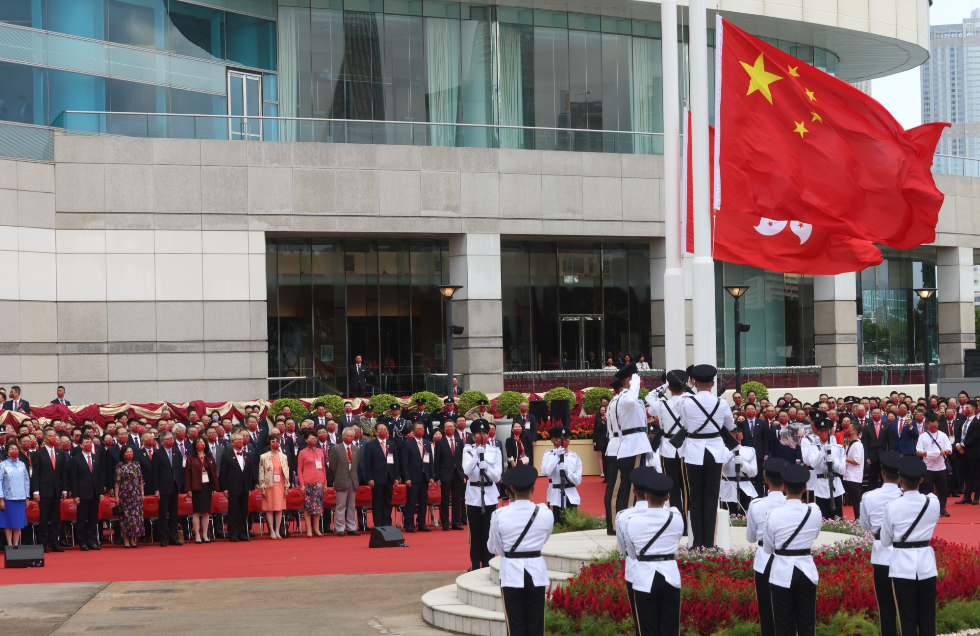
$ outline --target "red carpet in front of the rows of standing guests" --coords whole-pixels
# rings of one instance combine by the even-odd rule
[[[544,480],[535,489],[534,500],[544,501]],[[582,508],[604,514],[606,484],[600,477],[585,477],[579,487]],[[950,541],[980,542],[980,506],[955,506],[953,516],[940,520],[937,536]],[[851,507],[845,510],[852,516]],[[369,521],[368,521],[369,522]],[[311,574],[363,574],[374,572],[420,572],[465,570],[469,566],[467,532],[441,529],[406,535],[405,548],[368,549],[368,533],[360,537],[308,539],[293,535],[282,541],[267,538],[249,543],[215,541],[160,548],[141,545],[136,550],[105,546],[100,552],[48,554],[44,567],[7,569],[0,585],[87,581],[167,581],[187,578],[239,578],[304,576]]]

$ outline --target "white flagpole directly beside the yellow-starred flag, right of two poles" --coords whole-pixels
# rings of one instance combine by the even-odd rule
[[[691,141],[694,204],[694,364],[717,361],[714,330],[714,260],[708,158],[708,12],[705,0],[691,0]],[[666,68],[666,67],[664,67]],[[666,73],[664,73],[664,79]],[[713,96],[711,96],[713,97]]]

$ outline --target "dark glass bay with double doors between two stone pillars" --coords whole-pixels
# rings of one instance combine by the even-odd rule
[[[501,241],[505,370],[650,356],[650,249]]]

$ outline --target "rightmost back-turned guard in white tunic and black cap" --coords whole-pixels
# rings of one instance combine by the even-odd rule
[[[898,464],[903,493],[885,506],[881,545],[894,548],[888,575],[899,610],[899,633],[935,636],[936,554],[929,541],[939,522],[939,498],[918,491],[926,471],[922,458],[905,456]]]

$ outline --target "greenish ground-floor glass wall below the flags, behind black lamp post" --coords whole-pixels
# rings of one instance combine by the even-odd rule
[[[744,367],[799,367],[815,364],[813,276],[714,262],[718,367],[735,367],[735,305],[724,285],[749,285],[739,300]]]

